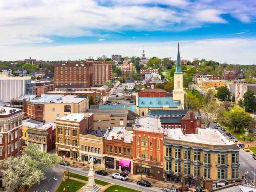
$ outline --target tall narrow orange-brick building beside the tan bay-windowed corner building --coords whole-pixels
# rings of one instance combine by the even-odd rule
[[[137,117],[133,128],[133,174],[162,180],[163,139],[160,117]]]

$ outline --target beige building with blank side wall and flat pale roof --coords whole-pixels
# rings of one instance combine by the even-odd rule
[[[81,113],[89,108],[89,99],[85,95],[66,95],[44,103],[44,119],[46,122],[55,121],[58,117],[70,113]]]

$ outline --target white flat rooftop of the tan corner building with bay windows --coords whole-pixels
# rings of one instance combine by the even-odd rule
[[[198,129],[198,134],[183,135],[181,128],[165,129],[164,136],[167,139],[174,139],[186,142],[208,145],[233,145],[232,140],[227,139],[222,133],[216,129]]]

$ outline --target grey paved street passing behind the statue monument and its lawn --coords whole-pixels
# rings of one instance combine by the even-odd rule
[[[63,165],[58,165],[57,168],[65,170],[65,166]],[[72,165],[69,165],[69,171],[70,172],[74,172],[76,174],[80,174],[80,175],[84,175],[87,176],[89,171],[82,169],[80,167],[75,167]],[[126,181],[121,181],[121,180],[117,180],[117,179],[112,179],[110,175],[106,175],[106,176],[102,176],[102,175],[95,175],[96,179],[102,180],[102,181],[107,181],[110,183],[114,183],[117,185],[121,185],[124,187],[129,187],[129,188],[133,188],[135,190],[139,190],[139,191],[143,191],[143,192],[160,192],[160,188],[158,187],[143,187],[140,185],[137,185],[136,182],[131,181],[131,180],[126,180]],[[43,191],[42,191],[43,192]]]

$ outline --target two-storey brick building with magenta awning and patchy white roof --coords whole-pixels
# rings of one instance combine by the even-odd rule
[[[107,129],[102,142],[106,168],[133,174],[133,132],[113,127]]]

